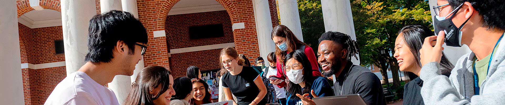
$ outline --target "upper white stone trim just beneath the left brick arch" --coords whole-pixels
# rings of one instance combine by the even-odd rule
[[[31,28],[31,29],[42,28],[42,27],[62,26],[62,19],[33,21],[24,15],[20,16],[18,18],[18,22]]]

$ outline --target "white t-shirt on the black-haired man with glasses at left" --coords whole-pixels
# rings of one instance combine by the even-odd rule
[[[56,85],[44,105],[97,104],[119,105],[114,92],[95,82],[84,72],[74,72]]]

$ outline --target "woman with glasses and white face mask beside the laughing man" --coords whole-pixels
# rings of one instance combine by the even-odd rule
[[[312,76],[312,68],[303,50],[295,50],[286,55],[286,76],[289,79],[287,85],[287,103],[303,104],[297,95],[303,94],[307,98],[314,95],[318,97],[333,96],[333,89],[325,78]]]

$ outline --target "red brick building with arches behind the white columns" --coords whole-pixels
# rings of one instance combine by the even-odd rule
[[[24,104],[43,104],[54,87],[66,77],[66,54],[57,54],[64,39],[60,0],[18,0],[19,42]],[[148,32],[144,67],[170,68],[175,77],[186,68],[219,69],[221,48],[235,47],[251,63],[260,56],[252,0],[138,0],[138,18]],[[275,0],[269,0],[271,26],[279,24]],[[96,14],[101,13],[95,1]],[[53,16],[47,16],[53,15]],[[192,39],[188,27],[221,24],[223,36]],[[161,33],[161,34],[160,34]],[[270,37],[270,36],[269,36]],[[85,43],[81,43],[85,44]]]

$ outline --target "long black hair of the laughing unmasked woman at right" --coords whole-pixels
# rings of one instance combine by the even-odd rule
[[[435,33],[431,31],[428,27],[421,25],[421,24],[411,24],[404,26],[401,28],[400,31],[398,31],[398,35],[403,34],[403,40],[409,46],[410,51],[412,54],[414,54],[414,59],[416,59],[416,64],[420,68],[421,66],[421,58],[420,58],[420,53],[419,50],[423,46],[424,38],[429,37],[429,36],[434,36]],[[449,76],[450,71],[454,68],[454,65],[452,65],[449,62],[449,59],[445,56],[444,53],[442,53],[442,58],[440,60],[440,70],[442,75]],[[419,77],[418,75],[412,73],[412,72],[403,72],[407,77],[409,77],[411,80],[414,78]]]

